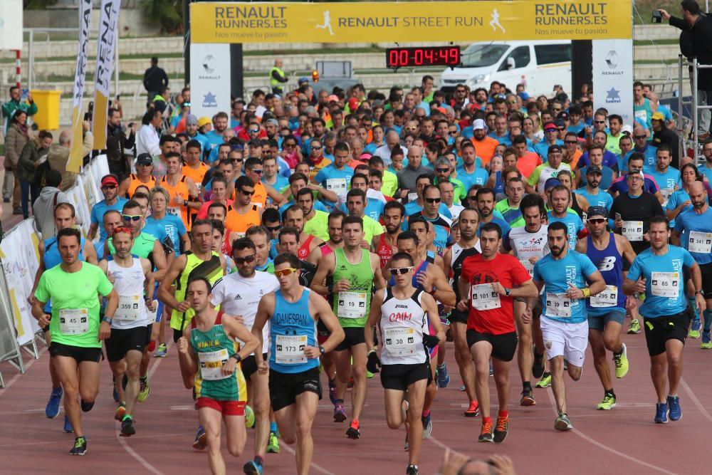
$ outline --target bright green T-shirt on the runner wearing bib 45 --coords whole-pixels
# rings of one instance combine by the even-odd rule
[[[108,296],[114,286],[98,266],[82,263],[77,272],[54,266],[42,273],[35,291],[38,301],[52,299],[49,331],[52,341],[81,348],[101,348],[99,337],[99,297]]]

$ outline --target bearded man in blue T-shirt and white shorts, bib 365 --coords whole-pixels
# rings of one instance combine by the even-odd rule
[[[534,264],[534,284],[542,295],[541,333],[551,366],[551,388],[556,400],[557,430],[573,429],[566,413],[564,359],[572,380],[581,377],[588,340],[586,306],[583,301],[606,288],[591,259],[569,249],[565,223],[549,225],[547,239],[551,254]],[[589,286],[586,286],[586,282]]]

